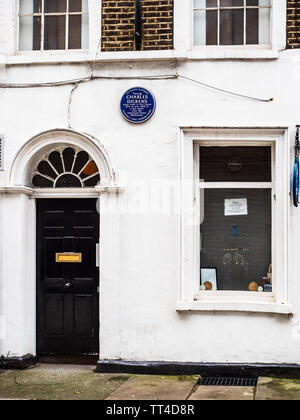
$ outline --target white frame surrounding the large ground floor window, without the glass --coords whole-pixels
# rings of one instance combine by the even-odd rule
[[[288,129],[184,129],[181,138],[181,276],[178,311],[246,311],[290,314],[288,283],[289,147]],[[200,291],[200,199],[195,150],[205,146],[272,147],[272,293]],[[222,183],[221,188],[238,187]],[[241,184],[254,188],[257,183]],[[268,183],[268,185],[270,185]],[[212,187],[213,185],[210,185]],[[216,185],[215,185],[216,186]],[[260,188],[266,184],[261,183]]]

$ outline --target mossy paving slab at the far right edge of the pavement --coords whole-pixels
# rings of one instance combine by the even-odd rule
[[[300,380],[259,378],[255,400],[300,400]]]

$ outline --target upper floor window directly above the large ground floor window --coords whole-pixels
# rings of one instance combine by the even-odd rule
[[[194,45],[270,45],[271,0],[193,0]]]

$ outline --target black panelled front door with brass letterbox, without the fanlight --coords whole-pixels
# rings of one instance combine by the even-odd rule
[[[37,200],[38,354],[99,351],[96,199]]]

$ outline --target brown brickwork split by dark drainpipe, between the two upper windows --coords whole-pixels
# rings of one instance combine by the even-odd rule
[[[173,49],[173,0],[142,0],[143,50]],[[135,0],[102,0],[102,51],[135,50]]]

